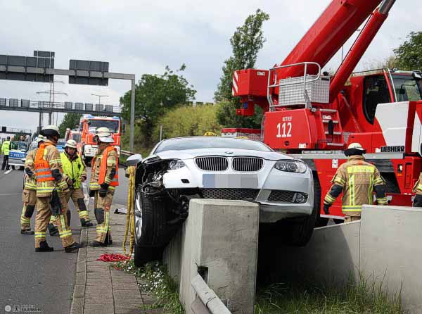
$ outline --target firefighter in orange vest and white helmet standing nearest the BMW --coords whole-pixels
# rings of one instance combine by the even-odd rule
[[[89,191],[94,194],[94,211],[98,222],[96,238],[91,246],[112,244],[110,234],[110,206],[115,188],[119,185],[117,150],[111,145],[114,140],[107,127],[98,127],[96,132],[98,152],[92,160]]]

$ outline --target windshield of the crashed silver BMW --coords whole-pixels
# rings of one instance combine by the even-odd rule
[[[229,137],[181,137],[162,141],[153,153],[160,151],[183,151],[185,149],[248,149],[252,151],[271,151],[261,142]]]

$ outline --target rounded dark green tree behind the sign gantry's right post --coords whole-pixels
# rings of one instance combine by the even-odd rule
[[[196,90],[186,78],[178,75],[186,65],[174,72],[168,66],[163,75],[144,74],[135,87],[135,118],[139,119],[141,132],[145,137],[145,146],[151,144],[151,136],[158,119],[175,106],[195,99]],[[131,92],[120,98],[122,115],[130,118]]]

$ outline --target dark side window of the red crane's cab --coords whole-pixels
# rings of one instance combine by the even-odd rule
[[[366,120],[373,124],[378,103],[389,103],[390,92],[384,75],[365,77],[364,80],[364,114]]]

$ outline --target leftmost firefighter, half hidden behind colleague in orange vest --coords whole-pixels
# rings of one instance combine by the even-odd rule
[[[44,143],[45,137],[39,135],[37,137],[38,147]],[[37,204],[37,181],[35,180],[34,160],[37,149],[27,153],[25,158],[25,184],[22,192],[23,208],[20,215],[20,233],[34,234],[31,231],[31,217]]]

